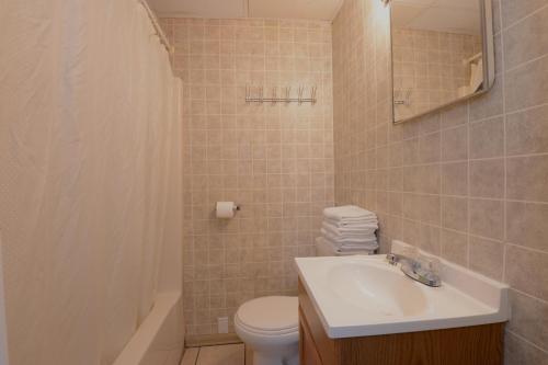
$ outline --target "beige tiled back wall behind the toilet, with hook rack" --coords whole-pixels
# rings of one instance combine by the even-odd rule
[[[331,24],[163,19],[184,82],[184,310],[190,334],[217,332],[250,298],[296,293],[333,204]],[[246,84],[318,85],[318,103],[247,105]],[[281,89],[277,91],[278,95]],[[214,216],[217,201],[242,207]]]

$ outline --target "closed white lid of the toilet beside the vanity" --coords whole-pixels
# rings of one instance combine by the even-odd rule
[[[262,297],[240,306],[238,319],[260,331],[282,331],[298,328],[299,301],[297,297]]]

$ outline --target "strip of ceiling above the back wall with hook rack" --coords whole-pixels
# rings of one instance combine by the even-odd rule
[[[332,20],[343,0],[148,0],[159,16]]]

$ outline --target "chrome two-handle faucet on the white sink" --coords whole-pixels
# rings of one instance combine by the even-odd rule
[[[415,258],[413,258],[415,256]],[[438,274],[439,261],[421,254],[398,254],[388,253],[386,255],[390,265],[400,264],[401,271],[412,280],[432,287],[442,286],[442,278]]]

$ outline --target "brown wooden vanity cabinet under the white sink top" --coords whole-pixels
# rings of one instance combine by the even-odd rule
[[[502,365],[504,323],[330,339],[299,281],[300,365]]]

